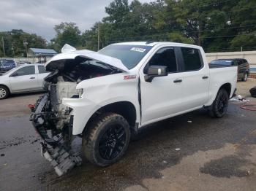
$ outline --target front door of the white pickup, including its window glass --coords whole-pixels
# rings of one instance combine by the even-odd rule
[[[168,75],[155,77],[152,82],[146,82],[144,77],[148,66],[167,66]],[[140,71],[142,125],[183,111],[180,75],[174,47],[162,47],[157,50],[143,71]]]

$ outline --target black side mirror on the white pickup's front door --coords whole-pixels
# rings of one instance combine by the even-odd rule
[[[167,66],[149,66],[145,75],[145,81],[152,82],[154,77],[165,77],[167,75]]]

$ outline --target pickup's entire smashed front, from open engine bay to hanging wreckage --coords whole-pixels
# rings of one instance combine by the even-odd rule
[[[44,140],[41,143],[42,155],[61,176],[82,162],[80,153],[72,151],[72,109],[62,104],[62,98],[81,98],[83,90],[76,89],[79,82],[117,74],[121,70],[80,56],[53,60],[46,69],[51,72],[45,77],[47,93],[31,106],[30,120]]]

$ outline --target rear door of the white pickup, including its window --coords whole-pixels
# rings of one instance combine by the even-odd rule
[[[197,48],[180,47],[181,52],[181,97],[184,109],[195,109],[208,101],[208,86],[210,82],[209,69],[203,63],[201,52]]]

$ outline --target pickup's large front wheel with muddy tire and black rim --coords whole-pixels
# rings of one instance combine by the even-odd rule
[[[124,117],[115,113],[102,114],[83,136],[83,153],[96,165],[116,163],[127,150],[130,136],[129,124]]]

